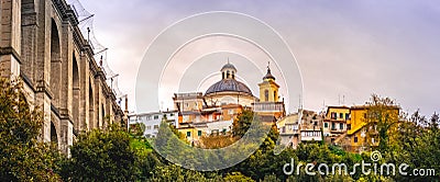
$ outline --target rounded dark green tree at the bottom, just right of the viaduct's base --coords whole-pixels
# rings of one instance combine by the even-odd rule
[[[66,181],[134,181],[140,173],[129,133],[118,126],[80,134],[65,166]],[[139,151],[138,151],[139,152]]]

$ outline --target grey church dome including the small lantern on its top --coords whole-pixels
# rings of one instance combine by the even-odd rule
[[[252,95],[252,91],[246,84],[235,80],[237,69],[232,64],[228,61],[220,71],[222,72],[222,79],[209,87],[205,94],[218,92],[241,92]]]

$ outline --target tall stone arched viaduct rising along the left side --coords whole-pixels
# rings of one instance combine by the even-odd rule
[[[65,0],[0,2],[0,76],[23,81],[28,102],[44,115],[42,140],[68,153],[79,132],[125,124]]]

